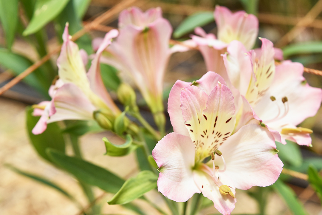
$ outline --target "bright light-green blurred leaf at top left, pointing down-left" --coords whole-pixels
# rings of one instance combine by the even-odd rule
[[[62,12],[70,0],[38,0],[30,20],[23,35],[29,35],[39,31],[43,26],[52,21]]]

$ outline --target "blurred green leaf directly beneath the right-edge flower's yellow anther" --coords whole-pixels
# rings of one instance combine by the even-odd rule
[[[279,150],[279,158],[284,162],[287,162],[293,166],[300,166],[303,163],[302,154],[298,144],[286,140],[286,145],[279,142],[275,142],[276,147]]]

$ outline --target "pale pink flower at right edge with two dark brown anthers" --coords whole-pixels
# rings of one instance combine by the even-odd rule
[[[273,43],[262,41],[261,50],[250,51],[233,41],[223,55],[228,82],[251,104],[256,115],[272,131],[276,141],[285,139],[299,145],[311,145],[311,130],[297,128],[304,119],[317,113],[321,105],[321,89],[310,87],[303,77],[303,65],[282,61],[275,65]],[[276,135],[280,133],[281,139]]]

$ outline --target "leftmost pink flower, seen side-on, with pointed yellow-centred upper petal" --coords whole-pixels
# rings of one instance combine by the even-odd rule
[[[41,134],[47,128],[47,123],[78,119],[92,120],[93,112],[101,108],[117,115],[120,110],[110,98],[99,70],[99,57],[102,51],[118,35],[117,30],[106,34],[100,45],[89,71],[86,73],[84,53],[77,44],[72,42],[68,34],[68,24],[63,33],[63,45],[57,59],[59,79],[50,87],[51,101],[41,102],[35,106],[34,116],[41,116],[33,134]]]

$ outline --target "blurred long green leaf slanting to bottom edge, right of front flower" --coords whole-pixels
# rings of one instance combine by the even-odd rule
[[[274,190],[278,192],[279,195],[284,199],[285,203],[294,215],[307,215],[302,203],[298,201],[294,191],[289,186],[284,184],[284,182],[281,180],[277,180],[272,186]]]

